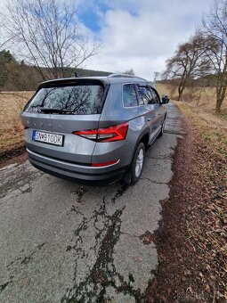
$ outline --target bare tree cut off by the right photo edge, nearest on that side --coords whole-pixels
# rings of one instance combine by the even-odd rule
[[[227,94],[227,1],[215,1],[203,17],[199,30],[207,41],[205,51],[213,68],[216,88],[216,112],[221,111]]]

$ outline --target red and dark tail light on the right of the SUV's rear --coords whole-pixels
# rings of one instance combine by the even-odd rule
[[[113,127],[105,127],[91,130],[80,130],[73,132],[74,135],[81,135],[96,142],[112,142],[125,140],[127,135],[128,123],[118,124]]]

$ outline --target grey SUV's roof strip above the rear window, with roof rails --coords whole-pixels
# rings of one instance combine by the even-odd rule
[[[48,80],[41,83],[41,86],[45,86],[48,84],[57,84],[57,83],[70,83],[70,82],[77,82],[82,80],[100,80],[103,83],[109,84],[117,84],[117,83],[149,83],[146,79],[134,77],[131,75],[125,74],[111,74],[105,77],[72,77],[72,78],[59,78]]]

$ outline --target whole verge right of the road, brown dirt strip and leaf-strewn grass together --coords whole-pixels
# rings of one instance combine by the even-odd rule
[[[176,102],[186,135],[174,153],[169,199],[155,234],[158,271],[148,302],[227,301],[227,159],[224,121]],[[165,135],[165,134],[164,134]]]

